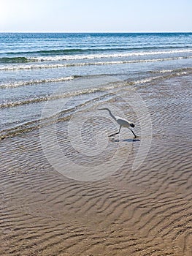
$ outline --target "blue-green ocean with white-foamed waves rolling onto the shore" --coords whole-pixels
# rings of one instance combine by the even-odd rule
[[[191,72],[192,33],[1,33],[0,137],[38,129],[47,101],[68,100],[65,118],[117,89]]]

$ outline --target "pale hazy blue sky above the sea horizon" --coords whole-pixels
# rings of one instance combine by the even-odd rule
[[[192,0],[0,0],[0,31],[192,31]]]

